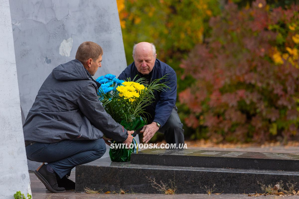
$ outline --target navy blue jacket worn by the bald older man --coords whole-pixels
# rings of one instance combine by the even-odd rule
[[[149,113],[150,118],[148,119],[148,124],[154,122],[158,122],[161,124],[161,127],[164,126],[166,121],[168,120],[173,107],[176,104],[176,72],[164,62],[156,59],[155,66],[152,69],[152,76],[150,78],[150,82],[152,80],[163,77],[164,75],[169,74],[167,79],[163,79],[160,82],[164,83],[169,81],[169,86],[171,90],[167,89],[166,92],[155,92],[155,100],[152,104],[146,107],[145,111]],[[126,78],[134,79],[137,76],[137,79],[141,78],[140,73],[137,71],[135,62],[130,64],[119,76],[119,79],[126,80]]]

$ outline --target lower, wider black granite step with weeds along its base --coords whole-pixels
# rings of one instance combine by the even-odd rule
[[[172,180],[177,193],[206,193],[205,186],[209,188],[214,183],[215,193],[260,193],[257,182],[265,185],[274,185],[281,180],[285,185],[295,183],[299,181],[299,172],[142,165],[103,158],[76,166],[76,191],[84,192],[84,188],[90,188],[103,192],[123,189],[135,193],[160,193],[148,178],[155,179],[158,184]]]

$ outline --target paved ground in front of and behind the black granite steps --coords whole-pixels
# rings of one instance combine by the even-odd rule
[[[225,150],[225,151],[252,151],[252,152],[274,152],[274,153],[298,153],[299,147],[297,146],[269,146],[269,147],[246,147],[246,148],[220,148],[220,147],[188,147],[188,149],[202,149],[202,150]],[[51,193],[41,181],[29,172],[31,191],[33,199],[91,199],[91,198],[122,198],[122,199],[137,199],[137,198],[163,198],[163,199],[185,199],[185,198],[199,198],[199,199],[236,199],[236,198],[251,198],[244,194],[220,194],[220,195],[207,195],[207,194],[86,194],[77,193],[75,191],[66,191],[65,193]],[[75,181],[75,172],[72,172],[70,179]],[[298,198],[299,196],[287,196],[288,198]],[[278,198],[278,196],[260,196],[259,198]]]

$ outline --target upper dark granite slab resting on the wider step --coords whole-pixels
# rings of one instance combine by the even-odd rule
[[[299,153],[146,149],[131,156],[132,164],[231,169],[299,171]]]

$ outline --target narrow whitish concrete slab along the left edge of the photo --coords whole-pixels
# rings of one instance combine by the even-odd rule
[[[0,0],[0,198],[31,194],[8,0]]]

